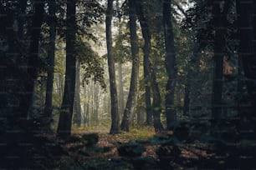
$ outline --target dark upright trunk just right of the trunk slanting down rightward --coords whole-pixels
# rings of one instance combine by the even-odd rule
[[[172,122],[177,120],[177,109],[174,107],[174,93],[177,82],[177,64],[176,54],[174,49],[174,36],[171,21],[171,2],[172,0],[165,0],[163,3],[163,17],[164,17],[164,33],[166,44],[166,124],[167,129],[170,129]]]

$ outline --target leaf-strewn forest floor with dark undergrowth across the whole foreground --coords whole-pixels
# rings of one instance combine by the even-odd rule
[[[20,157],[0,159],[0,169],[256,169],[255,147],[238,150],[220,144],[217,153],[211,143],[177,143],[175,138],[172,132],[156,134],[151,127],[115,135],[100,128],[74,128],[66,139],[55,133],[28,135],[27,144],[8,148],[8,154]]]

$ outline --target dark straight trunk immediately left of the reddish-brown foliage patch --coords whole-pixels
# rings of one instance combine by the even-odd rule
[[[223,11],[221,2],[212,2],[212,25],[215,30],[214,39],[214,66],[212,87],[212,126],[215,126],[223,117],[223,56],[225,55],[225,33],[227,32],[229,2],[224,3]]]

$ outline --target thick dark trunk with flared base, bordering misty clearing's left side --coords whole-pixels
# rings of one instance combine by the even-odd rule
[[[67,138],[71,134],[71,123],[74,104],[74,88],[75,88],[75,1],[67,1],[67,31],[66,31],[66,72],[64,96],[61,104],[59,115],[59,125],[57,133],[61,138]]]

